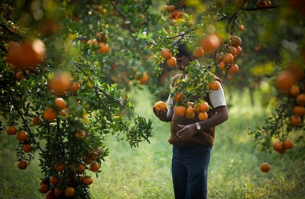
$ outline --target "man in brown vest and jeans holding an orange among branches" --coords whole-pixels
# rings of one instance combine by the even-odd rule
[[[178,86],[176,81],[187,78],[185,67],[191,61],[199,66],[199,61],[188,51],[183,43],[178,44],[176,67],[182,71],[172,79],[172,87]],[[215,77],[215,80],[220,81]],[[221,82],[221,81],[220,81]],[[175,198],[199,199],[207,198],[207,169],[214,144],[215,127],[228,120],[228,109],[224,91],[212,91],[208,96],[197,96],[209,102],[213,107],[209,118],[200,121],[196,116],[188,119],[178,117],[174,113],[175,103],[172,96],[168,97],[168,110],[155,110],[155,115],[165,122],[171,122],[171,136],[168,142],[173,145],[172,179]]]

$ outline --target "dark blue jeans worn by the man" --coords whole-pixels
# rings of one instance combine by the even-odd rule
[[[173,145],[172,178],[175,199],[206,199],[207,170],[212,146]]]

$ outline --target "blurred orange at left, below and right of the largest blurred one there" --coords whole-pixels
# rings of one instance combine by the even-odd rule
[[[70,73],[58,72],[48,81],[48,89],[55,94],[60,94],[68,91],[70,84]]]

